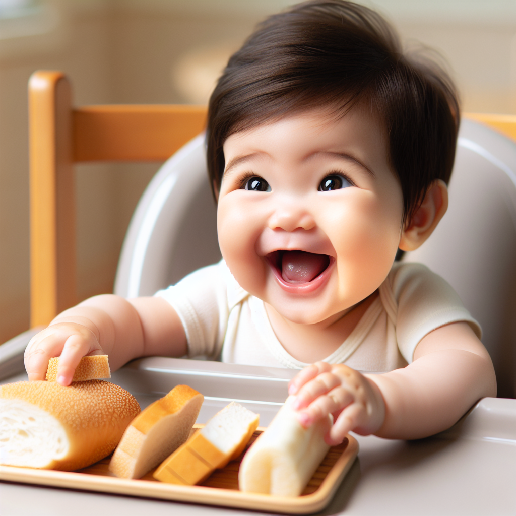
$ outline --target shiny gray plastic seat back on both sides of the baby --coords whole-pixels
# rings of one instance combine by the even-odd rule
[[[404,261],[428,265],[459,293],[483,328],[498,395],[516,395],[516,144],[463,120],[449,209]],[[204,138],[172,156],[144,192],[127,230],[115,293],[152,295],[220,259]]]

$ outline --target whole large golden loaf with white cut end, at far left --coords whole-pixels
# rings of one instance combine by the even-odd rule
[[[73,471],[109,455],[140,412],[136,399],[103,380],[0,386],[0,463]]]

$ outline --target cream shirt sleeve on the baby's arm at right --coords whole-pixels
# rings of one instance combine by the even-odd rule
[[[397,301],[396,340],[409,364],[422,338],[451,322],[467,322],[477,337],[482,337],[480,325],[465,309],[459,295],[425,265],[396,264],[389,276]]]

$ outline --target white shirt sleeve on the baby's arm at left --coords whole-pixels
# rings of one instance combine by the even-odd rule
[[[188,357],[215,359],[222,347],[228,321],[225,264],[198,269],[175,285],[154,294],[168,301],[186,333]]]

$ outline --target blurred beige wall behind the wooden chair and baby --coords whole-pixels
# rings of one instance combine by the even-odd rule
[[[0,0],[0,342],[29,324],[26,85],[66,72],[77,105],[205,103],[228,56],[285,0]],[[447,59],[465,111],[516,114],[514,0],[376,0]],[[111,292],[156,164],[77,167],[77,299]]]

